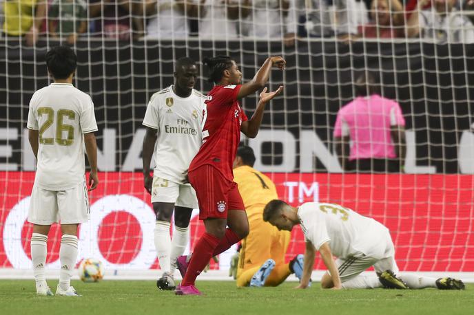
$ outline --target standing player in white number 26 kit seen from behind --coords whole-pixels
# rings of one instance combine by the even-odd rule
[[[89,191],[99,184],[94,104],[72,85],[76,61],[69,47],[54,47],[46,54],[54,83],[34,92],[28,111],[28,140],[37,158],[28,222],[33,224],[31,258],[39,295],[52,295],[45,279],[46,243],[51,224],[61,222],[56,295],[79,296],[70,279],[77,260],[77,228],[89,219],[84,146],[91,168]]]

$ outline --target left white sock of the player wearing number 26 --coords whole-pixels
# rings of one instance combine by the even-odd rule
[[[31,237],[31,260],[33,263],[34,281],[37,283],[37,289],[47,287],[46,283],[46,255],[48,254],[48,235],[33,233]]]

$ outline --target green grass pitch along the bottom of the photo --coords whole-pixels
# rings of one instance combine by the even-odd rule
[[[57,280],[49,281],[53,292]],[[32,280],[0,281],[0,313],[41,314],[474,314],[474,285],[464,291],[295,290],[280,287],[237,288],[232,281],[198,281],[205,296],[175,296],[158,291],[155,281],[102,281],[72,285],[83,296],[37,296]]]

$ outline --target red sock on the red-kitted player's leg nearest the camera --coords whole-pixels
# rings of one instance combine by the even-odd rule
[[[218,246],[220,239],[212,234],[205,232],[194,246],[194,252],[189,261],[189,266],[181,286],[194,285],[196,277],[204,270],[209,260],[212,258],[216,246]]]

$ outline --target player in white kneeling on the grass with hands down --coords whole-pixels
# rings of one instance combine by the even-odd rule
[[[308,287],[318,250],[328,269],[321,279],[321,286],[325,289],[464,289],[461,280],[448,277],[397,276],[399,270],[389,229],[374,219],[338,204],[307,202],[295,208],[274,199],[265,206],[263,220],[280,230],[289,231],[300,224],[305,234],[306,251],[298,288]],[[337,257],[336,261],[333,256]],[[376,275],[360,275],[371,266]]]

